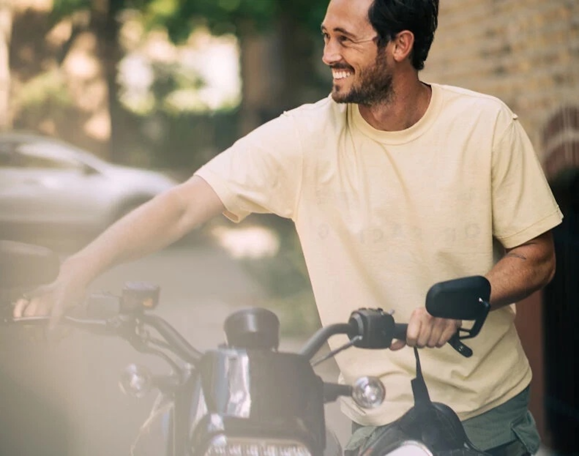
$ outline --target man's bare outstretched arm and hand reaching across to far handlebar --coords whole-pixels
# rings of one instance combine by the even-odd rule
[[[211,186],[193,176],[130,212],[67,258],[57,280],[38,297],[20,300],[14,315],[52,312],[58,318],[64,307],[81,299],[90,282],[104,271],[167,247],[224,210]]]

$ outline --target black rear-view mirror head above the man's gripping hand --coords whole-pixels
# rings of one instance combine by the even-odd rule
[[[439,282],[426,295],[426,310],[433,317],[478,320],[486,317],[490,282],[482,275],[472,275]]]

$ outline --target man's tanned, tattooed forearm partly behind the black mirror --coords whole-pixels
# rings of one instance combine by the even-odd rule
[[[551,231],[506,249],[486,278],[491,285],[491,310],[515,303],[547,285],[555,275]]]

